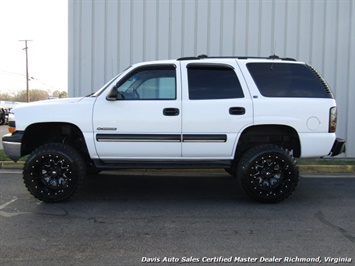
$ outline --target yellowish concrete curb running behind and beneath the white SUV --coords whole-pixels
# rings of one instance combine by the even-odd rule
[[[10,161],[3,161],[0,162],[0,169],[22,169],[24,162],[10,162]],[[306,173],[355,173],[355,165],[299,165],[300,172]],[[125,169],[126,170],[126,169]],[[153,172],[156,171],[155,169],[139,169],[145,172]],[[127,171],[129,171],[127,169]],[[137,171],[137,169],[135,169]],[[163,169],[159,171],[171,171],[171,169]],[[174,169],[174,171],[181,171],[181,172],[224,172],[223,169]]]

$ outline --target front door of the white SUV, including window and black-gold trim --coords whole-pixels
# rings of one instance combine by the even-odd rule
[[[181,157],[178,68],[138,66],[97,99],[94,141],[101,159]]]

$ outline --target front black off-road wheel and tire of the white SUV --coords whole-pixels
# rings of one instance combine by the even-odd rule
[[[83,184],[85,162],[71,146],[49,143],[38,147],[27,158],[23,179],[28,191],[45,202],[70,198]]]

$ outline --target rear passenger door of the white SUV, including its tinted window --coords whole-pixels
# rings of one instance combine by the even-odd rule
[[[181,61],[182,156],[230,159],[252,123],[252,101],[235,61]],[[244,88],[244,89],[243,89]]]

